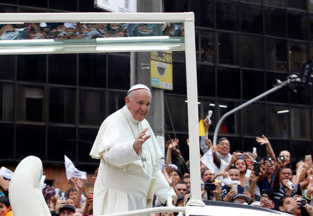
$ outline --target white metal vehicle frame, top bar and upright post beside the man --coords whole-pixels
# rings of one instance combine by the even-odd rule
[[[204,206],[200,185],[198,88],[195,58],[194,14],[190,13],[1,13],[0,23],[99,22],[99,23],[184,23],[188,135],[191,167],[191,200],[188,205]],[[129,52],[136,49],[129,49]]]

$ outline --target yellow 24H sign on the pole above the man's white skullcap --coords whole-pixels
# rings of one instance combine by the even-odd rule
[[[150,53],[151,86],[172,90],[172,51]]]

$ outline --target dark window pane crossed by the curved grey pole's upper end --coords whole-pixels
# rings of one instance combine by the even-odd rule
[[[266,91],[274,88],[274,86],[277,84],[277,79],[280,81],[285,81],[286,78],[287,74],[266,72]],[[281,88],[271,94],[268,94],[266,98],[268,101],[287,103],[288,92],[286,89]]]

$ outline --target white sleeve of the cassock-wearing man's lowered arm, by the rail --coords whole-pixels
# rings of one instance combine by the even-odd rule
[[[156,178],[154,194],[157,195],[162,203],[165,203],[168,198],[172,197],[172,195],[176,195],[174,189],[170,187],[161,170],[154,172],[153,176]]]

